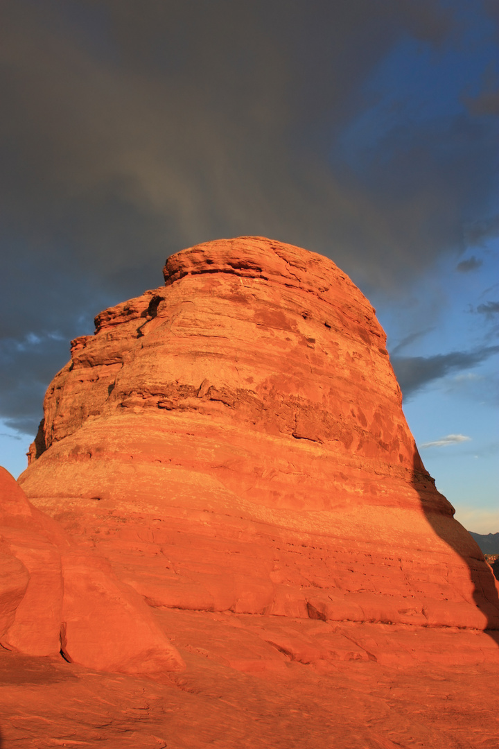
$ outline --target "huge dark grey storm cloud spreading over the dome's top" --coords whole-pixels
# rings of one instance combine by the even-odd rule
[[[402,116],[358,146],[361,169],[342,145],[397,43],[459,35],[434,0],[7,0],[2,14],[9,419],[31,418],[91,315],[160,285],[185,246],[264,234],[390,291],[462,249],[463,220],[488,226],[480,97]]]

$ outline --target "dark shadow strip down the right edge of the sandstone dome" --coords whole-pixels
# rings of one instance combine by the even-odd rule
[[[480,628],[499,647],[499,595],[495,576],[472,536],[461,524],[453,521],[453,506],[435,488],[435,479],[429,476],[417,450],[414,452],[412,484],[419,494],[421,507],[432,529],[465,562],[473,586],[474,603],[486,617],[485,626]]]

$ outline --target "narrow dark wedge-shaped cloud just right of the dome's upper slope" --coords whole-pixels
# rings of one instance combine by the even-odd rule
[[[452,351],[434,357],[392,357],[391,363],[402,393],[408,398],[433,380],[477,366],[498,352],[499,346],[486,346],[476,351]]]

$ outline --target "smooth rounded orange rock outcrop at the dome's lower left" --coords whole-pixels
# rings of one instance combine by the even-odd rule
[[[0,645],[98,670],[183,667],[150,608],[108,562],[70,542],[0,467]]]

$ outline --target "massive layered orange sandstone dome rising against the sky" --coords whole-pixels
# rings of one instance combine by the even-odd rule
[[[19,479],[32,503],[155,607],[498,628],[352,281],[263,237],[164,272],[72,342]]]

